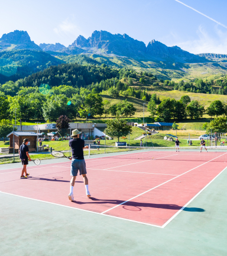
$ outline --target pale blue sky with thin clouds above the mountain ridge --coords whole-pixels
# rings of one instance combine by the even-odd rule
[[[226,0],[181,0],[227,27]],[[155,39],[191,53],[227,54],[227,28],[176,0],[8,0],[1,2],[0,37],[26,30],[35,43],[69,46],[95,30]]]

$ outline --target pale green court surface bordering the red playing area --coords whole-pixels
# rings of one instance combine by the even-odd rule
[[[67,161],[51,159],[42,164]],[[0,170],[18,167],[1,165]],[[226,183],[227,168],[164,228],[18,197],[12,195],[14,191],[0,193],[0,255],[225,256]],[[198,208],[203,211],[193,212]]]

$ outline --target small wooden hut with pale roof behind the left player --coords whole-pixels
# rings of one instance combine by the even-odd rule
[[[18,151],[24,139],[29,139],[29,151],[37,151],[37,133],[35,132],[11,132],[7,135],[9,137],[9,149]]]

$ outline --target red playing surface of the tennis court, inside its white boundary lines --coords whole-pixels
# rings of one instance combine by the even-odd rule
[[[226,158],[227,152],[139,152],[87,159],[92,197],[78,176],[73,202],[70,161],[28,165],[26,180],[21,168],[1,170],[0,191],[164,228],[226,168]]]

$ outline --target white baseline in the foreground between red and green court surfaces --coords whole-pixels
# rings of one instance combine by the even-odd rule
[[[51,203],[51,202],[48,202],[48,201],[43,201],[43,200],[38,200],[38,199],[31,199],[30,197],[18,196],[18,195],[15,195],[15,194],[10,194],[10,193],[6,193],[6,192],[2,192],[2,191],[0,191],[0,193],[2,193],[2,194],[9,194],[9,195],[11,195],[11,196],[22,197],[22,198],[30,199],[30,200],[34,200],[34,201],[41,201],[41,202],[43,202],[43,203],[54,204],[54,205],[56,205],[56,206],[66,207],[66,208],[70,208],[70,209],[74,209],[74,210],[81,210],[81,211],[83,211],[83,212],[89,212],[89,213],[95,213],[95,214],[97,214],[97,215],[102,215],[101,213],[92,212],[92,211],[84,210],[84,209],[79,209],[79,208],[72,207],[72,206],[64,206],[63,204]],[[145,222],[138,222],[137,220],[124,219],[124,218],[122,218],[122,217],[116,217],[116,216],[111,216],[111,215],[102,215],[102,216],[113,217],[113,218],[115,218],[115,219],[128,220],[129,222],[135,222],[135,223],[140,223],[140,224],[144,224],[144,225],[148,225],[148,226],[154,226],[154,227],[156,227],[156,228],[162,228],[161,226],[158,226],[158,225],[153,225],[153,224],[149,224],[149,223],[145,223]]]

